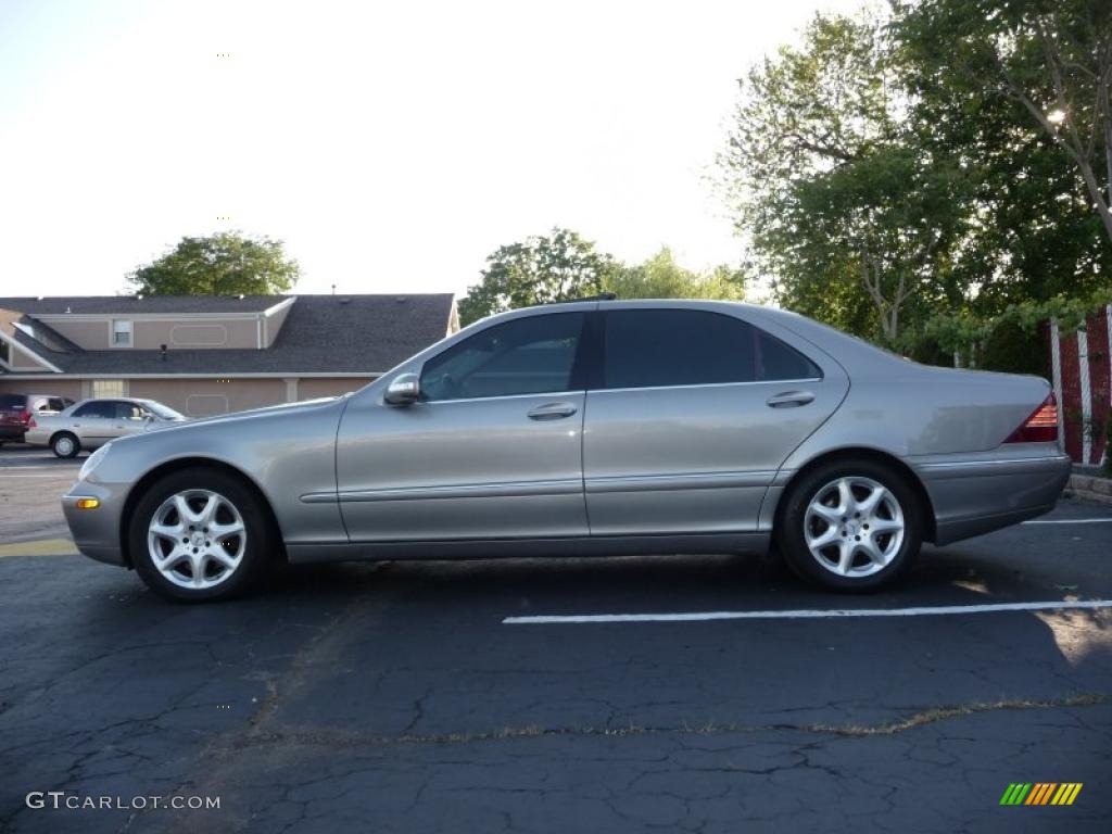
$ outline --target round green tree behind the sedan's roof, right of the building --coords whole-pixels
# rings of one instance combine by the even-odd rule
[[[498,247],[487,258],[483,280],[459,300],[459,321],[469,325],[518,307],[596,295],[617,268],[614,258],[570,229]]]

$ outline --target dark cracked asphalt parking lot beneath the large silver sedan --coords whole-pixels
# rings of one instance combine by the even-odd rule
[[[20,544],[61,535],[79,464],[0,453],[0,831],[1109,831],[1112,608],[1023,606],[1112,599],[1110,507],[865,597],[673,556],[290,569],[190,607]],[[1084,786],[1001,806],[1016,782]],[[27,806],[50,791],[220,807]]]

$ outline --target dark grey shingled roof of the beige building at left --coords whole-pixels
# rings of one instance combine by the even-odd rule
[[[201,306],[209,305],[209,311],[226,312],[226,307],[212,302],[210,297],[200,297]],[[285,300],[285,296],[258,296],[256,311],[272,307]],[[23,299],[0,299],[0,309],[20,310]],[[47,299],[43,299],[43,302]],[[53,299],[57,300],[57,299]],[[77,299],[69,301],[72,312],[79,307]],[[98,302],[107,299],[96,299]],[[128,301],[121,298],[117,300]],[[161,299],[185,301],[188,299]],[[235,300],[235,299],[232,299]],[[40,302],[42,304],[42,302]],[[49,330],[41,321],[23,316],[24,324],[43,335],[37,340],[17,328],[13,337],[20,344],[61,368],[66,374],[91,376],[132,376],[175,374],[211,374],[235,376],[237,374],[379,374],[407,359],[419,350],[444,338],[453,324],[454,300],[451,294],[435,295],[309,295],[296,296],[277,338],[269,348],[170,348],[165,358],[159,350],[82,350],[81,348]],[[56,309],[51,305],[48,309]],[[63,307],[64,309],[64,307]],[[105,307],[105,315],[128,315],[125,307]],[[20,310],[27,312],[27,310]],[[82,312],[90,311],[88,307]],[[168,310],[162,310],[168,311]],[[197,310],[185,305],[181,312]],[[51,349],[48,334],[60,341]],[[17,376],[24,371],[0,374]]]

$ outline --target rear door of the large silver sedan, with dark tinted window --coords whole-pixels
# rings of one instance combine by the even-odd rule
[[[776,470],[848,380],[726,312],[606,306],[587,394],[592,535],[757,529]]]

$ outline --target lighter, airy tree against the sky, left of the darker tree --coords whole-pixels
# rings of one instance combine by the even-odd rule
[[[777,299],[893,344],[909,314],[963,292],[962,177],[906,123],[897,58],[876,13],[816,16],[741,81],[719,160]]]

